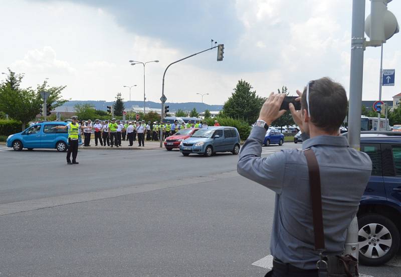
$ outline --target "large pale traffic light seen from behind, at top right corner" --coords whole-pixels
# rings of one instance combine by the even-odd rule
[[[370,0],[370,14],[365,20],[365,33],[370,38],[368,46],[380,46],[394,33],[399,31],[397,18],[387,10],[391,0]]]

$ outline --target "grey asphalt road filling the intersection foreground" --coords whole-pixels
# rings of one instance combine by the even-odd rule
[[[252,263],[270,254],[274,193],[239,176],[237,159],[83,149],[67,165],[0,147],[0,276],[263,276]]]

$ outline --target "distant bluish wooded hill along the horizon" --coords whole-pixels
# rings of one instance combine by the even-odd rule
[[[87,100],[87,101],[70,100],[67,103],[65,103],[64,105],[57,107],[56,111],[74,111],[75,104],[84,104],[84,103],[93,104],[96,109],[106,110],[107,106],[113,104],[114,102],[93,101],[93,100]],[[126,108],[131,107],[131,106],[143,107],[143,101],[124,101],[124,105]],[[219,111],[219,110],[222,110],[222,108],[223,108],[223,105],[208,105],[208,104],[199,103],[199,102],[186,102],[186,103],[166,102],[166,105],[169,105],[170,111],[176,111],[177,109],[191,110],[193,108],[196,108],[196,110],[198,112],[202,112],[205,109]],[[149,101],[149,102],[146,102],[146,106],[150,107],[150,108],[161,108],[161,103]]]

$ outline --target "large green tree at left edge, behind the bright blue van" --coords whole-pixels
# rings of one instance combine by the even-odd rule
[[[8,70],[8,78],[0,84],[0,110],[8,113],[11,118],[20,120],[23,129],[40,113],[43,103],[41,91],[50,93],[48,102],[53,103],[53,108],[67,101],[61,98],[61,92],[65,86],[50,87],[45,80],[38,85],[37,90],[32,87],[22,88],[21,81],[24,74],[15,73],[10,68]]]

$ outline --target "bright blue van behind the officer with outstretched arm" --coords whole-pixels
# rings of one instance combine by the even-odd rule
[[[55,129],[58,125],[67,125],[69,122],[49,121],[41,122],[30,126],[22,132],[9,135],[7,147],[13,147],[15,151],[23,148],[32,150],[34,148],[55,148],[59,152],[67,150],[68,130]],[[82,144],[79,135],[79,145]]]

